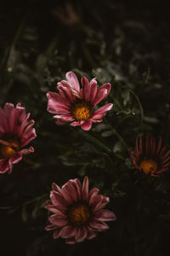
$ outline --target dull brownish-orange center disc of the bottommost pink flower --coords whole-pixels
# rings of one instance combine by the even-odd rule
[[[72,207],[69,212],[69,217],[72,224],[82,225],[86,224],[90,218],[90,211],[86,205],[79,205],[77,207]]]

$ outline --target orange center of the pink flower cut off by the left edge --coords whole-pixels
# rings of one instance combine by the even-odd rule
[[[15,141],[15,140],[11,140],[11,141],[8,141],[8,143],[10,145],[8,146],[2,146],[0,148],[1,150],[1,155],[3,158],[10,158],[10,157],[14,157],[16,154],[17,154],[17,151],[20,150],[20,143]]]

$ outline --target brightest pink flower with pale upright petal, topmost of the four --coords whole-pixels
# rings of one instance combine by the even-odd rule
[[[96,79],[90,83],[82,77],[82,89],[75,73],[66,73],[66,81],[58,83],[59,93],[48,91],[48,112],[55,113],[57,125],[71,122],[72,126],[81,125],[82,130],[88,131],[92,123],[99,123],[113,104],[108,103],[98,110],[94,107],[107,97],[111,91],[111,84],[106,83],[97,87]]]

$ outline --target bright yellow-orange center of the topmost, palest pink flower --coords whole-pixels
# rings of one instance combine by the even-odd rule
[[[86,103],[77,103],[72,111],[72,114],[77,121],[87,120],[90,117],[90,113],[90,108]]]

